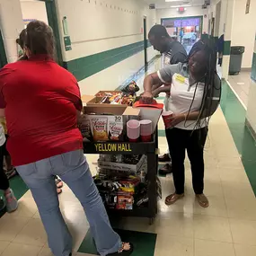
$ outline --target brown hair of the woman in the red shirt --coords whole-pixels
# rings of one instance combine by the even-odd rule
[[[55,40],[52,29],[45,22],[30,22],[26,29],[25,46],[32,55],[47,54],[55,57]]]

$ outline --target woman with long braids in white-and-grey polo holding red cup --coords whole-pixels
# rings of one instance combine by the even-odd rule
[[[193,189],[201,207],[208,207],[204,195],[204,146],[208,120],[220,100],[220,80],[216,76],[216,52],[199,41],[190,50],[185,63],[166,66],[147,75],[144,81],[144,102],[151,102],[152,85],[172,83],[169,109],[173,112],[166,137],[172,156],[175,191],[165,199],[166,205],[184,197],[184,159],[190,158]]]

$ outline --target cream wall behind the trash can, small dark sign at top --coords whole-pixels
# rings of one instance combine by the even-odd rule
[[[252,53],[256,31],[256,0],[251,0],[250,13],[245,14],[247,0],[235,0],[232,26],[232,46],[245,46],[242,67],[252,67]]]

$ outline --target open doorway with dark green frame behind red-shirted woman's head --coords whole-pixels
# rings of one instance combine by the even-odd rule
[[[31,21],[40,20],[52,28],[56,40],[56,61],[63,66],[55,0],[20,1],[24,27]]]

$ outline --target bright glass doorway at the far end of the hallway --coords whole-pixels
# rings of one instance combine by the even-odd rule
[[[166,18],[161,24],[167,29],[173,40],[178,40],[189,53],[195,42],[200,40],[203,28],[203,16]]]

